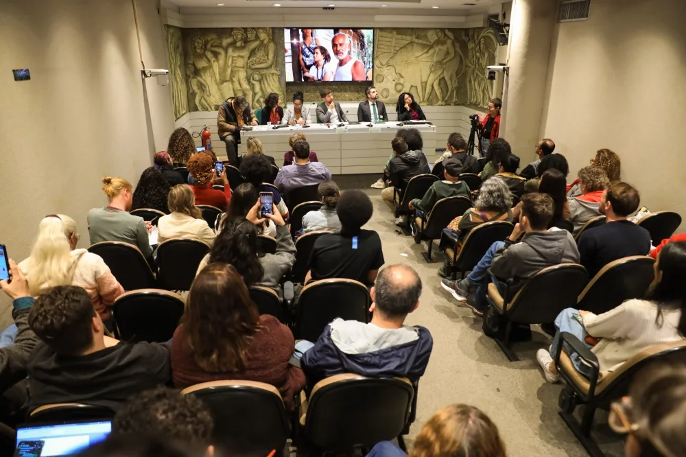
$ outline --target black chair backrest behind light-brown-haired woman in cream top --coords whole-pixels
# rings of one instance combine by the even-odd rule
[[[210,247],[197,239],[168,239],[157,248],[157,283],[167,290],[191,290]]]

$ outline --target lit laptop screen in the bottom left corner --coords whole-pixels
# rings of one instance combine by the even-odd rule
[[[103,441],[111,430],[111,421],[19,425],[14,457],[70,456]]]

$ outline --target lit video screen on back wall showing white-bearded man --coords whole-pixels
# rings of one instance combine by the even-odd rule
[[[371,81],[374,29],[284,29],[286,82]]]

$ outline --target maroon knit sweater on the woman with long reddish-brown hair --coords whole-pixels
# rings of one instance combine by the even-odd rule
[[[274,316],[263,314],[260,329],[248,347],[246,369],[236,373],[209,373],[193,358],[184,326],[179,325],[171,340],[171,372],[174,386],[185,388],[201,382],[242,379],[272,384],[279,389],[287,410],[293,410],[294,397],[305,387],[303,371],[289,364],[295,341],[293,333]]]

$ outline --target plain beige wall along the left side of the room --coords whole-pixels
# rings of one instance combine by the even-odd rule
[[[156,3],[137,4],[145,65],[167,68]],[[0,242],[10,257],[28,255],[50,213],[71,215],[88,246],[102,176],[136,183],[151,151],[166,148],[169,88],[152,78],[145,100],[140,60],[130,0],[0,1]],[[32,79],[14,82],[19,68]]]

